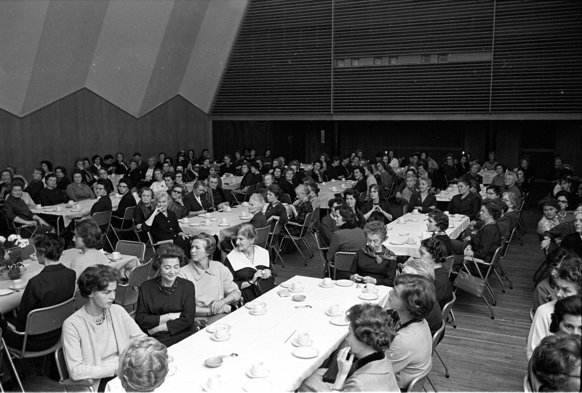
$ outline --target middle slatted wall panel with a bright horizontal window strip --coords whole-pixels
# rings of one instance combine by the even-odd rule
[[[488,108],[490,57],[449,59],[490,56],[492,2],[336,0],[334,17],[334,113]]]

